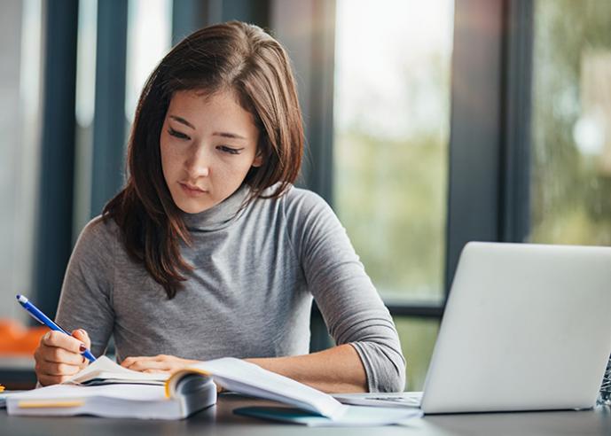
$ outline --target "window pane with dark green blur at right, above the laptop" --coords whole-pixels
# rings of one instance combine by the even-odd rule
[[[538,0],[530,240],[611,244],[611,3]]]

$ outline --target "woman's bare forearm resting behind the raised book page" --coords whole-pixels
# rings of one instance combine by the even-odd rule
[[[326,393],[367,391],[363,362],[349,344],[312,354],[246,360]]]

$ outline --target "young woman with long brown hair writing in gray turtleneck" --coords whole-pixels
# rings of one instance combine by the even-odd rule
[[[388,309],[331,208],[292,185],[302,148],[270,35],[230,22],[176,45],[140,97],[127,184],[74,247],[57,321],[76,330],[43,337],[39,382],[113,335],[131,370],[234,356],[326,392],[403,390]],[[312,298],[337,346],[308,354]]]

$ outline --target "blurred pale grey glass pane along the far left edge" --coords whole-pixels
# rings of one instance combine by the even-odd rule
[[[0,319],[27,323],[15,294],[30,295],[33,286],[43,4],[26,0],[0,8]]]

